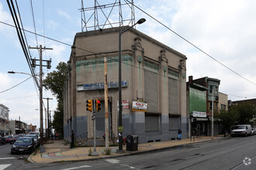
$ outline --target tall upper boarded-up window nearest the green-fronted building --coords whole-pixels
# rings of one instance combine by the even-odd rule
[[[178,113],[178,80],[168,78],[169,83],[169,113]]]

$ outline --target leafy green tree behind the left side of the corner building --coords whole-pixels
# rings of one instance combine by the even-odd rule
[[[47,77],[43,80],[43,87],[46,90],[50,90],[57,98],[57,109],[54,111],[53,127],[63,137],[63,90],[67,64],[61,62],[57,65],[56,69],[51,73],[47,73]]]

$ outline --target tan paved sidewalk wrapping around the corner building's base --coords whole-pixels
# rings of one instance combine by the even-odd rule
[[[214,136],[214,140],[225,138],[222,135]],[[123,153],[117,153],[118,146],[110,147],[111,154],[105,155],[105,147],[96,147],[98,156],[89,156],[90,150],[94,151],[94,147],[80,147],[70,148],[70,145],[66,145],[64,141],[52,141],[50,144],[44,145],[45,152],[40,153],[40,149],[36,151],[36,155],[29,155],[28,161],[35,163],[49,163],[49,162],[67,162],[67,161],[82,161],[82,160],[94,160],[99,158],[113,158],[123,155],[140,154],[147,151],[161,150],[164,148],[172,148],[179,145],[188,145],[196,142],[211,141],[211,136],[204,136],[195,138],[195,141],[190,141],[190,138],[182,139],[181,141],[159,141],[144,143],[138,145],[138,151],[126,151],[126,145],[123,145]],[[51,142],[51,141],[50,141]]]

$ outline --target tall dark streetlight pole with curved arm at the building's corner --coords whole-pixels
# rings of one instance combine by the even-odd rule
[[[133,24],[133,26],[137,25],[137,24],[142,24],[143,22],[145,22],[146,19],[140,19],[139,21],[137,21],[135,24]],[[121,68],[121,60],[122,60],[122,51],[121,51],[121,36],[124,32],[126,32],[128,29],[132,28],[133,26],[130,26],[129,28],[125,29],[124,31],[122,31],[121,28],[119,28],[119,127],[118,127],[118,136],[119,136],[119,151],[123,151],[123,135],[122,132],[123,130],[123,123],[122,123],[122,111],[123,111],[123,106],[122,106],[122,68]],[[120,134],[119,135],[119,131]]]

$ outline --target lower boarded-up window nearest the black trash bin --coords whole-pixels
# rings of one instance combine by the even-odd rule
[[[146,131],[159,131],[159,116],[146,115],[145,116],[145,130]]]

